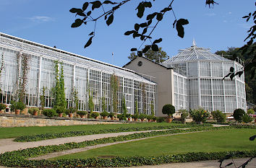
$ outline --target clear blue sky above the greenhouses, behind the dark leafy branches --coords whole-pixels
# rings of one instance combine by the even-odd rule
[[[184,25],[184,38],[178,37],[176,29],[172,27],[174,14],[168,12],[155,28],[153,39],[163,38],[158,46],[170,57],[175,56],[179,49],[189,48],[193,38],[197,46],[210,48],[213,53],[229,47],[242,47],[247,30],[252,26],[252,22],[245,22],[242,17],[255,11],[255,1],[216,2],[218,4],[209,9],[205,6],[205,0],[174,0],[172,7],[176,18],[189,20],[189,25]],[[133,30],[136,22],[145,22],[148,14],[161,11],[170,1],[155,0],[153,7],[145,10],[142,19],[137,18],[135,11],[139,1],[129,1],[115,12],[114,22],[110,26],[106,25],[103,18],[98,20],[93,43],[88,48],[84,48],[84,45],[93,31],[93,22],[72,28],[74,20],[80,17],[69,12],[73,7],[82,8],[84,3],[85,0],[0,0],[0,32],[124,66],[129,62],[130,49],[138,48],[142,44],[141,40],[126,36],[124,32]],[[103,10],[95,9],[93,12],[95,14],[92,17],[97,17]],[[148,44],[149,41],[145,42],[145,45]]]

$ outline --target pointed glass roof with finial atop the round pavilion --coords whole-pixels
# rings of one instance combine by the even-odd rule
[[[209,48],[199,48],[197,47],[195,40],[190,48],[179,50],[176,56],[169,58],[163,62],[163,65],[174,62],[182,61],[193,61],[193,60],[209,60],[209,61],[230,61],[223,56],[210,53]]]

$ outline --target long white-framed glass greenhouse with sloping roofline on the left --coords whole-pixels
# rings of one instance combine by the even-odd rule
[[[157,84],[150,80],[152,76],[4,33],[0,33],[0,56],[0,102],[4,104],[21,99],[24,92],[25,105],[53,107],[56,74],[63,71],[67,107],[74,105],[77,94],[79,110],[88,110],[91,96],[97,112],[102,111],[103,99],[108,112],[121,112],[123,100],[131,114],[136,107],[148,115],[155,111]]]

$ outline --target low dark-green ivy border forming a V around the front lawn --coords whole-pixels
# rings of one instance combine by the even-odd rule
[[[49,154],[55,151],[64,151],[67,149],[78,149],[85,146],[93,146],[102,143],[113,143],[116,141],[127,141],[135,138],[145,138],[152,136],[168,135],[172,133],[187,133],[193,131],[210,131],[232,129],[230,127],[221,128],[190,128],[187,130],[168,130],[168,131],[153,131],[148,133],[134,133],[127,136],[117,136],[109,138],[101,138],[93,141],[83,141],[80,143],[64,143],[59,146],[39,146],[31,149],[23,149],[19,151],[6,152],[0,155],[0,165],[7,167],[76,167],[80,164],[83,167],[116,167],[116,166],[139,166],[145,164],[163,164],[169,162],[192,162],[208,159],[221,159],[227,154],[236,151],[221,151],[221,152],[193,152],[187,154],[176,154],[166,156],[131,156],[131,157],[116,157],[113,159],[65,159],[59,161],[47,160],[26,160],[31,157]],[[239,153],[239,157],[254,156],[256,151],[244,151]],[[106,162],[105,162],[106,161]],[[110,164],[111,163],[111,164]]]

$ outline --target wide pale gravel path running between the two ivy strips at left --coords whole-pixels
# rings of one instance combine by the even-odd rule
[[[163,131],[163,130],[153,130],[153,131]],[[121,132],[121,133],[101,133],[88,136],[74,136],[67,138],[54,138],[43,141],[34,141],[34,142],[14,142],[14,138],[7,138],[0,140],[0,154],[3,154],[6,151],[17,151],[19,149],[27,149],[38,146],[48,146],[48,145],[60,145],[70,142],[82,142],[82,141],[92,141],[99,138],[108,138],[115,136],[126,136],[132,133],[147,133],[151,131],[133,131],[133,132]]]

